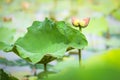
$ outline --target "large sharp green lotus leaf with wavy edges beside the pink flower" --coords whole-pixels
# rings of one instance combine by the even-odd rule
[[[79,30],[64,21],[55,22],[46,18],[43,22],[34,21],[24,37],[15,42],[12,50],[20,57],[38,63],[45,55],[59,57],[68,47],[82,49],[86,45],[87,40]]]

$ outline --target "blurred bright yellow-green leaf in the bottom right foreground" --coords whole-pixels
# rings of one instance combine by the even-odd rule
[[[119,80],[119,61],[120,49],[109,50],[86,60],[81,67],[66,68],[45,80]]]

